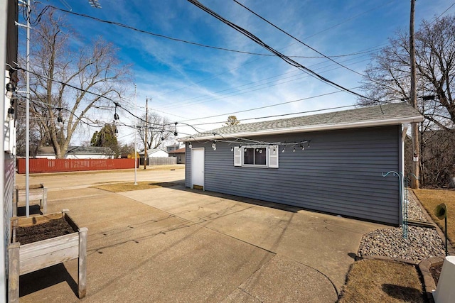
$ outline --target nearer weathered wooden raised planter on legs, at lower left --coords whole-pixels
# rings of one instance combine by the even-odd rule
[[[63,222],[62,222],[63,221]],[[68,231],[63,231],[61,225],[67,225]],[[8,296],[9,302],[18,302],[19,300],[19,276],[28,272],[48,268],[49,266],[63,263],[75,258],[79,259],[78,267],[78,297],[82,299],[86,293],[86,268],[87,268],[87,231],[85,227],[79,228],[77,224],[68,215],[68,209],[63,209],[61,213],[25,217],[11,218],[12,236],[11,244],[8,247],[9,255],[9,281]],[[58,230],[45,230],[49,227],[58,226]],[[52,228],[52,227],[50,227]],[[37,236],[43,236],[45,233],[54,236],[40,241],[23,238],[24,243],[21,245],[21,234],[29,236],[34,233],[33,229],[38,232]],[[55,229],[55,228],[54,228]],[[63,231],[63,232],[62,232]],[[57,233],[56,233],[57,232]]]

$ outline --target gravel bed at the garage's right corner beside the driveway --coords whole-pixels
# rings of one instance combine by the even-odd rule
[[[409,197],[408,219],[427,221],[419,204]],[[380,255],[419,262],[422,259],[445,255],[444,242],[434,228],[409,226],[407,238],[401,227],[383,228],[365,233],[358,255]]]

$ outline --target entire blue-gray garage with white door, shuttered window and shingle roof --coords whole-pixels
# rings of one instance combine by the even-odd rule
[[[402,174],[402,138],[420,121],[387,104],[198,133],[181,139],[186,187],[399,225],[402,183],[382,174]]]

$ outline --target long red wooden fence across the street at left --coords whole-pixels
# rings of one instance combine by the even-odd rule
[[[17,172],[26,173],[26,160],[17,159]],[[83,170],[122,170],[134,168],[134,159],[30,159],[29,171],[78,172]]]

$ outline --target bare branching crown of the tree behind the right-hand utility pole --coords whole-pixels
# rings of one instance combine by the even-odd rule
[[[372,99],[410,101],[408,37],[399,31],[389,39],[390,45],[373,57],[363,79],[363,89]],[[415,38],[419,110],[432,126],[454,132],[455,15],[422,21]],[[434,96],[434,100],[428,96]],[[360,104],[370,102],[359,100]]]

